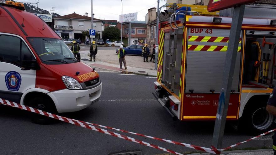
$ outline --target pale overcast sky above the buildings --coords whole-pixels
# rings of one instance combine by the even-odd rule
[[[22,0],[35,3],[38,0]],[[166,0],[160,0],[160,6]],[[36,5],[36,4],[34,4]],[[61,16],[77,13],[83,15],[88,12],[91,17],[91,0],[40,0],[38,7],[50,12],[51,7]],[[123,14],[138,12],[138,20],[145,21],[149,8],[157,7],[157,0],[123,0]],[[121,14],[121,0],[93,0],[94,18],[118,20]]]

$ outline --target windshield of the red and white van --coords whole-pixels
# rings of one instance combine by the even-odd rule
[[[70,64],[79,62],[61,39],[28,38],[37,55],[45,64]]]

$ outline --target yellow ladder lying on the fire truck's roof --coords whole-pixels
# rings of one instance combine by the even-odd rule
[[[176,4],[178,7],[190,7],[191,11],[196,11],[198,13],[200,13],[200,15],[204,15],[204,16],[219,16],[220,12],[219,11],[215,11],[215,12],[209,12],[207,10],[207,6],[205,5],[188,5],[188,4]],[[173,3],[169,3],[169,7],[174,6]]]

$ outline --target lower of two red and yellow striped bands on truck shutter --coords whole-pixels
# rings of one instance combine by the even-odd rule
[[[228,46],[210,46],[210,45],[188,45],[189,51],[218,51],[226,52]],[[241,46],[238,47],[238,52],[241,52]]]

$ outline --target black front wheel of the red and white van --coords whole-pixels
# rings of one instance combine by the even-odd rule
[[[45,96],[34,97],[29,101],[31,107],[53,113],[55,112],[55,107],[53,106],[52,101]],[[32,114],[32,121],[36,124],[50,124],[53,122],[53,119],[50,117],[42,116],[40,114]]]

